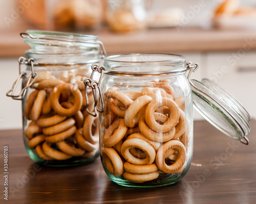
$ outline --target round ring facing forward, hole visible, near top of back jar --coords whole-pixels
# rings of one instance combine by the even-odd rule
[[[70,109],[65,109],[59,104],[59,96],[62,91],[70,91],[74,96],[74,105]],[[82,94],[78,88],[72,84],[59,84],[53,88],[51,93],[51,103],[53,110],[61,116],[72,116],[76,114],[82,107]]]

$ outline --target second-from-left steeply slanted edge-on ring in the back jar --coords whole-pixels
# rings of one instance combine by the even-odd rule
[[[44,104],[44,101],[46,99],[46,95],[47,95],[47,93],[45,90],[38,91],[38,94],[34,101],[34,105],[29,114],[29,118],[31,120],[37,120],[39,118],[41,111],[42,111],[42,105]]]

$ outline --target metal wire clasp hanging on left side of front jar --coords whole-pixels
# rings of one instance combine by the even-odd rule
[[[103,103],[103,97],[101,94],[101,91],[99,89],[102,77],[103,77],[103,71],[105,71],[105,67],[103,66],[99,66],[98,64],[92,64],[92,74],[90,78],[86,78],[83,80],[83,84],[85,85],[85,89],[84,89],[84,93],[86,95],[86,111],[87,113],[89,113],[90,115],[96,117],[98,112],[103,113],[104,111],[104,103]],[[99,82],[93,80],[93,75],[94,72],[97,71],[100,73],[100,78],[99,78]],[[89,99],[88,99],[88,87],[92,88],[92,92],[93,92],[93,98],[94,98],[94,113],[89,111]],[[98,97],[99,98],[99,106],[101,107],[101,109],[98,107]],[[98,111],[98,112],[97,112]]]

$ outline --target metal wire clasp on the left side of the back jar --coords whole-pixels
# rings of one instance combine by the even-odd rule
[[[22,100],[27,92],[27,89],[34,83],[37,74],[34,72],[34,60],[32,58],[26,59],[24,57],[20,57],[18,59],[19,63],[19,76],[17,80],[13,83],[12,88],[6,93],[7,96],[12,97],[15,100]],[[19,94],[15,95],[15,91],[17,89],[17,86],[19,84],[20,80],[25,80],[27,78],[27,71],[22,71],[21,67],[22,64],[27,64],[31,66],[31,74],[29,75],[26,85],[22,83],[22,90],[19,92]],[[23,88],[24,87],[24,88]]]

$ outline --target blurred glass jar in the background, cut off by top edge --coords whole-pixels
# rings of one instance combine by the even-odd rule
[[[130,32],[144,29],[146,0],[108,0],[106,21],[115,32]]]

